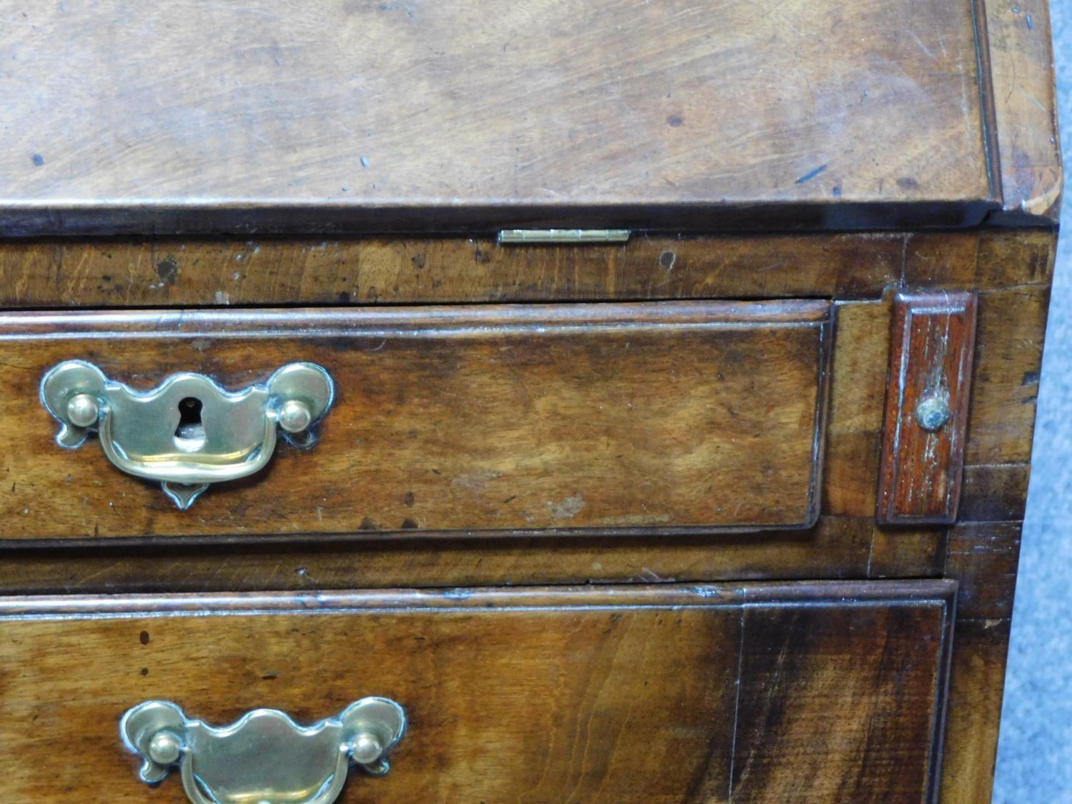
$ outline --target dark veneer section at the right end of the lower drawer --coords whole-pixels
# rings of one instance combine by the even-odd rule
[[[889,609],[877,619],[861,624],[836,608],[745,612],[733,801],[809,804],[929,798],[923,779],[937,776],[939,750],[933,738],[924,736],[921,720],[925,717],[930,733],[940,734],[942,706],[929,691],[913,689],[908,668],[942,647],[934,644],[937,635],[924,632],[918,611]],[[757,639],[757,634],[763,638]],[[885,639],[899,644],[891,651],[882,644]],[[853,650],[840,647],[846,641],[854,643]],[[807,649],[801,650],[804,644]],[[899,652],[899,658],[890,655]],[[943,685],[944,668],[939,665],[933,672],[935,683]],[[817,687],[836,689],[837,705],[830,705],[833,698],[823,701]],[[879,705],[883,714],[877,721]],[[915,745],[903,744],[897,736],[906,720],[919,724]],[[815,751],[817,744],[840,749],[821,756]],[[889,776],[876,773],[868,750],[857,753],[862,744],[897,746]]]

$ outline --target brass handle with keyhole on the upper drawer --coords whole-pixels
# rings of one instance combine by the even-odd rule
[[[309,428],[333,397],[327,371],[304,362],[237,392],[191,373],[136,391],[84,360],[62,362],[41,381],[41,400],[61,425],[60,446],[80,447],[95,430],[108,460],[160,481],[181,509],[209,483],[260,471],[276,449],[277,428],[295,446],[311,445]]]

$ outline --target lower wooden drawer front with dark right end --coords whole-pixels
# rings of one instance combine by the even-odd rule
[[[224,726],[383,696],[408,731],[341,801],[920,802],[954,589],[4,598],[0,798],[185,801],[175,772],[148,789],[120,742],[143,701]]]

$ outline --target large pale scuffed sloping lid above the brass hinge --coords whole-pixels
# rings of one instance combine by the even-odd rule
[[[969,0],[0,17],[8,235],[933,226],[999,206]]]

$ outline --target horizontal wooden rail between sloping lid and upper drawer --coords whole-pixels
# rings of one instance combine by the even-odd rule
[[[1045,230],[493,240],[28,241],[0,244],[6,308],[416,304],[829,296],[1048,285]]]

